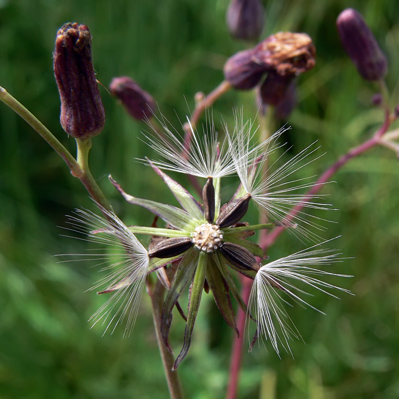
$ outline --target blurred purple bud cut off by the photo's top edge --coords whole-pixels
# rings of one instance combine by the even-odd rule
[[[231,0],[226,14],[231,36],[257,40],[263,30],[264,13],[260,0]]]

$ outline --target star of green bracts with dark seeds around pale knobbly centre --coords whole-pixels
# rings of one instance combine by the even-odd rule
[[[251,226],[248,223],[239,223],[239,220],[245,215],[247,207],[238,209],[239,206],[231,206],[231,204],[238,203],[240,205],[240,201],[247,202],[245,196],[232,198],[230,203],[223,205],[220,211],[220,178],[215,180],[209,178],[205,184],[203,207],[208,210],[206,216],[202,206],[186,189],[152,163],[150,164],[168,185],[183,209],[130,196],[111,176],[109,178],[126,201],[149,209],[173,227],[161,229],[129,226],[128,229],[132,233],[157,236],[158,243],[151,245],[149,250],[148,273],[166,267],[168,264],[175,263],[176,265],[178,263],[164,302],[161,320],[162,337],[169,350],[171,348],[168,343],[168,334],[172,322],[172,309],[184,288],[190,283],[184,344],[174,363],[174,369],[176,369],[190,347],[191,334],[204,284],[209,286],[213,292],[215,302],[227,324],[238,333],[229,292],[232,292],[239,306],[246,313],[248,309],[230,275],[229,267],[254,279],[255,273],[259,269],[255,256],[262,258],[264,253],[258,245],[246,241],[245,237],[253,235],[255,230],[270,229],[275,224]],[[212,188],[209,188],[209,185],[212,185]],[[225,227],[220,227],[217,224],[219,219]]]

